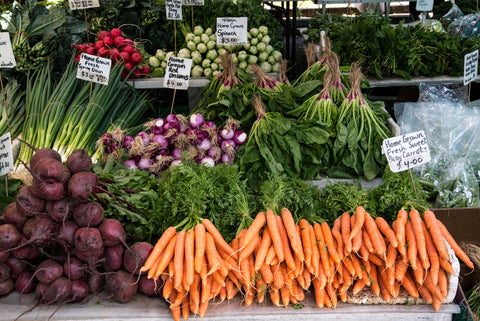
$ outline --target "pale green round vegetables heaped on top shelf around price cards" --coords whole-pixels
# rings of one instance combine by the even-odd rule
[[[259,65],[265,73],[279,72],[282,54],[270,44],[268,28],[261,26],[251,28],[247,33],[248,43],[245,45],[218,45],[217,36],[211,28],[203,29],[195,26],[193,32],[185,35],[185,47],[181,48],[177,57],[192,59],[192,77],[215,77],[222,70],[221,58],[227,51],[232,52],[233,62],[240,70],[253,74],[253,65]],[[173,51],[159,49],[148,60],[153,77],[163,77],[168,58],[175,55]]]

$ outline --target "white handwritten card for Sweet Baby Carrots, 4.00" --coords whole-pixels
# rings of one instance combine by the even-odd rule
[[[430,149],[423,130],[385,139],[382,152],[392,172],[402,172],[430,161]]]

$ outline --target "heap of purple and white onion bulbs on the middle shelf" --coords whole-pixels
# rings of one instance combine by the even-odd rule
[[[188,118],[169,114],[145,124],[145,131],[134,137],[120,129],[104,134],[100,140],[102,156],[126,151],[130,158],[125,165],[159,174],[171,165],[195,161],[205,166],[231,165],[237,149],[247,140],[247,134],[238,129],[238,121],[228,119],[222,127],[206,121],[201,114]]]

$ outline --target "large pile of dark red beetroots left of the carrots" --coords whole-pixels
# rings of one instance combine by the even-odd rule
[[[0,296],[35,292],[39,304],[54,304],[102,289],[119,302],[156,295],[153,281],[138,276],[152,245],[128,246],[122,224],[90,201],[100,186],[91,166],[83,149],[65,164],[48,148],[33,155],[32,185],[0,216]]]

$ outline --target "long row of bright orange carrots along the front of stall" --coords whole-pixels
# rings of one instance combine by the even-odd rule
[[[311,286],[318,307],[335,308],[339,299],[370,287],[386,302],[403,287],[438,311],[453,273],[445,240],[459,259],[472,262],[431,211],[398,212],[390,226],[363,207],[344,213],[333,227],[323,222],[294,222],[283,208],[257,214],[248,229],[228,244],[203,219],[195,228],[168,228],[141,271],[161,281],[163,297],[175,320],[190,313],[204,317],[210,300],[243,295],[245,305],[268,295],[288,306],[305,298]]]

